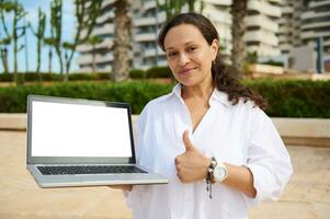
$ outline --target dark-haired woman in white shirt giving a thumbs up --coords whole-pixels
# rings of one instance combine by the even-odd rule
[[[205,16],[174,16],[159,45],[180,83],[140,114],[137,159],[170,182],[122,187],[133,217],[248,218],[251,205],[278,198],[292,174],[264,101],[223,64]]]

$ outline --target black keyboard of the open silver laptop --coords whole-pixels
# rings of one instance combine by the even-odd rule
[[[43,175],[147,173],[133,165],[56,165],[37,166]]]

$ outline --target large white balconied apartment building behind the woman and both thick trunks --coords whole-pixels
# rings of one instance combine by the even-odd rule
[[[164,0],[158,0],[163,3]],[[93,49],[91,45],[81,45],[78,48],[80,56],[78,65],[81,71],[92,71],[93,60],[96,71],[111,71],[113,56],[113,4],[114,0],[104,0],[102,12],[93,35],[103,38]],[[161,24],[167,20],[166,12],[157,7],[156,0],[135,0],[132,9],[132,67],[147,69],[152,66],[166,66],[166,56],[158,48],[157,36]],[[281,0],[249,0],[247,32],[244,41],[248,51],[257,51],[259,56],[280,55],[278,24],[281,18]],[[231,51],[231,0],[197,0],[195,11],[206,15],[219,33],[221,53],[230,55]],[[187,5],[182,11],[187,11]],[[93,56],[94,54],[94,56]]]

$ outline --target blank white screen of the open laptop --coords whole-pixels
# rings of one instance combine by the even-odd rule
[[[32,103],[32,157],[132,157],[127,108]]]

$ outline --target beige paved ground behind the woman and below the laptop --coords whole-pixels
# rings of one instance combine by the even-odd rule
[[[109,187],[41,189],[25,169],[24,131],[0,131],[0,219],[130,218]],[[329,219],[330,148],[288,147],[295,173],[277,203],[253,208],[251,219]]]

